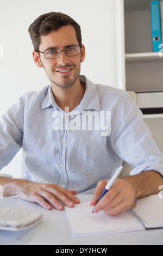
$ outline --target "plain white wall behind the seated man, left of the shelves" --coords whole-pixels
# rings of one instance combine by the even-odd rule
[[[0,44],[3,46],[3,57],[1,53],[0,115],[24,92],[39,91],[49,84],[44,70],[37,68],[33,62],[33,45],[28,33],[34,19],[49,11],[68,14],[79,23],[86,48],[81,74],[95,83],[116,87],[115,2],[1,0]],[[21,153],[18,153],[2,172],[20,176],[20,163]]]

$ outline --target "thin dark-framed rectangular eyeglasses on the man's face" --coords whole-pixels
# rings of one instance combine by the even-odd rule
[[[57,59],[60,57],[61,52],[65,52],[66,56],[77,56],[81,53],[81,48],[79,45],[73,45],[71,47],[67,47],[65,50],[59,50],[56,48],[45,50],[44,53],[46,59]],[[40,52],[40,51],[36,51]]]

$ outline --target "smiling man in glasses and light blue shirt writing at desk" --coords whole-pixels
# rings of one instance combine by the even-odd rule
[[[0,179],[4,196],[63,210],[60,202],[73,207],[79,203],[77,192],[96,188],[93,212],[114,216],[133,208],[136,198],[158,193],[163,156],[139,108],[126,92],[79,76],[85,47],[78,23],[52,12],[38,17],[29,33],[34,62],[43,67],[51,86],[23,94],[1,119],[0,168],[21,147],[26,164],[24,179]],[[87,112],[111,113],[111,130],[103,135],[95,126],[84,127],[84,121],[84,129],[74,129],[73,118]],[[132,175],[117,179],[96,204],[110,173],[123,160],[134,166]]]

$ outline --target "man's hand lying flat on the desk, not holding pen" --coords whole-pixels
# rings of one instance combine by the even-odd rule
[[[64,206],[60,204],[58,200],[69,207],[74,207],[74,204],[80,203],[79,199],[74,196],[74,194],[77,194],[77,191],[68,191],[56,184],[42,184],[28,180],[16,180],[11,186],[13,187],[13,185],[15,187],[15,194],[21,199],[36,202],[48,210],[51,210],[52,206],[58,210],[63,210]]]

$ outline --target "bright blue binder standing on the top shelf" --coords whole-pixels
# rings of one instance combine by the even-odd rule
[[[151,26],[153,52],[159,52],[161,44],[161,17],[159,1],[151,1]]]

